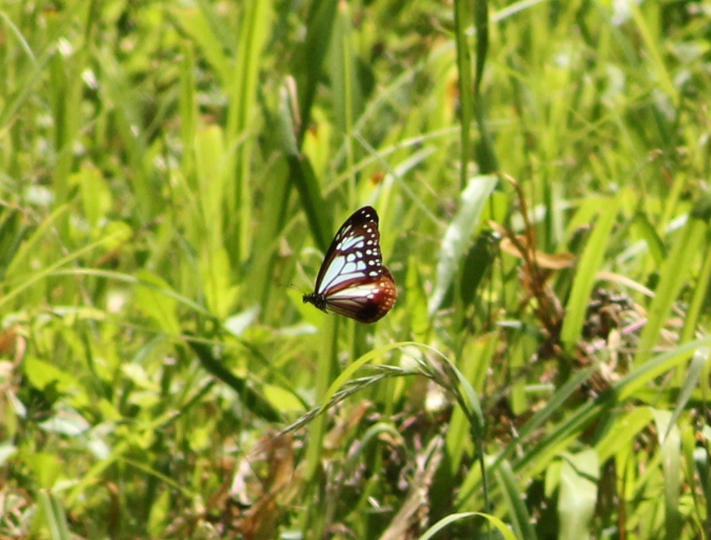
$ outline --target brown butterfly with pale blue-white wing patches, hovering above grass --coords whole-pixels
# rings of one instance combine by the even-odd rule
[[[364,206],[336,232],[316,277],[314,292],[304,294],[304,303],[359,323],[375,323],[390,311],[396,299],[395,280],[383,266],[380,254],[378,212]]]

